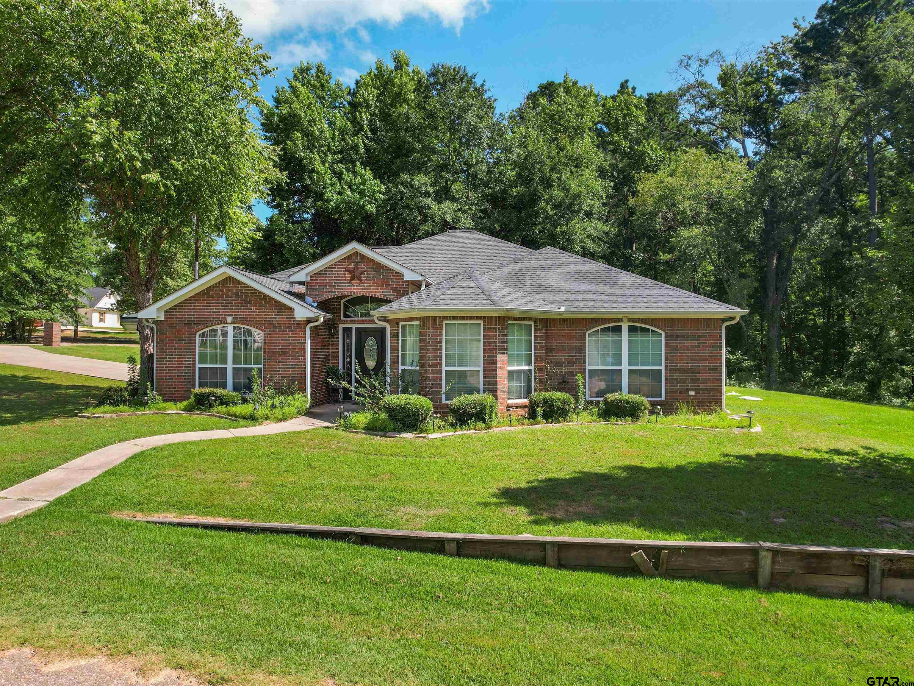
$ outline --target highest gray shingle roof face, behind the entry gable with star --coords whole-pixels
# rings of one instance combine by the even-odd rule
[[[470,270],[487,272],[534,252],[523,245],[468,229],[452,229],[406,245],[375,250],[436,284]]]

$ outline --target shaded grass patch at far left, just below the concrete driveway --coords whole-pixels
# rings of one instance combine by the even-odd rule
[[[55,383],[33,374],[0,374],[0,425],[72,417],[98,398],[101,389]]]

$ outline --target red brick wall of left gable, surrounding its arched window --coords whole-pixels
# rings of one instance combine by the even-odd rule
[[[190,397],[197,384],[197,332],[226,324],[263,332],[263,373],[305,390],[305,325],[289,305],[228,276],[165,310],[155,322],[155,388],[166,401]]]

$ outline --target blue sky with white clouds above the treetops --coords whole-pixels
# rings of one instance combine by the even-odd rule
[[[755,51],[812,19],[819,0],[228,0],[245,33],[273,56],[271,98],[299,60],[323,61],[347,83],[377,58],[403,49],[413,64],[455,62],[478,73],[500,111],[565,71],[611,93],[628,79],[638,92],[665,91],[685,53]],[[258,214],[263,217],[266,209]]]

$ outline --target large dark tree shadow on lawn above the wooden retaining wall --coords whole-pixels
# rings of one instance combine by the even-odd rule
[[[621,524],[695,541],[914,548],[914,457],[859,450],[615,466],[501,488],[531,523]],[[586,535],[586,534],[585,534]]]

